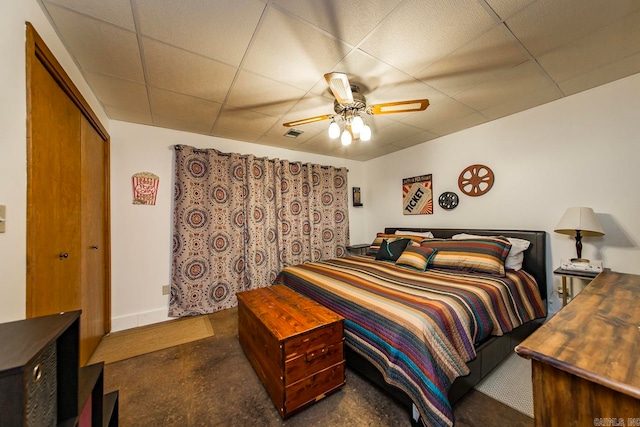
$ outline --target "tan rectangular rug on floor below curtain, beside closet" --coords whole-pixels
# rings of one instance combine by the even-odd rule
[[[213,336],[209,316],[185,317],[106,335],[88,364],[118,362]]]

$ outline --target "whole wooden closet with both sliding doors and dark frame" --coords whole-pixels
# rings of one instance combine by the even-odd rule
[[[110,330],[109,135],[27,25],[28,317],[82,310],[80,363]]]

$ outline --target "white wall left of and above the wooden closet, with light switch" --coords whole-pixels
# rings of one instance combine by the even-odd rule
[[[26,304],[26,80],[25,21],[33,24],[98,118],[106,116],[36,0],[0,4],[0,204],[7,206],[0,234],[0,322],[23,319]]]

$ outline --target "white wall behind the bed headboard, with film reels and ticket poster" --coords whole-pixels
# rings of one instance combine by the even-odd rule
[[[465,196],[458,175],[476,163],[493,170],[495,184],[483,196]],[[554,233],[555,225],[566,208],[589,206],[606,235],[585,237],[583,256],[638,274],[639,169],[637,74],[367,162],[362,191],[369,201],[369,240],[386,226],[400,225],[544,230],[555,269],[561,259],[575,256],[575,241]],[[403,215],[402,179],[428,173],[433,215]],[[437,205],[444,191],[459,195],[456,209]],[[549,280],[554,282],[551,274]],[[557,311],[559,301],[551,303],[550,312]]]

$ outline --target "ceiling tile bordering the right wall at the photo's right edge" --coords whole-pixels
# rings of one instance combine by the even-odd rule
[[[580,74],[558,85],[565,95],[573,95],[637,73],[640,73],[640,53]]]

